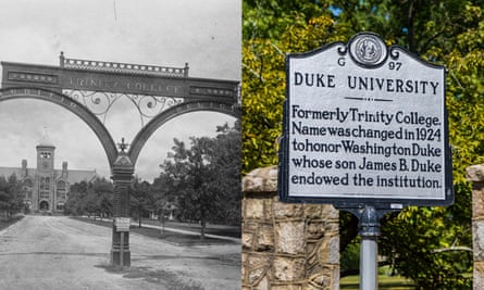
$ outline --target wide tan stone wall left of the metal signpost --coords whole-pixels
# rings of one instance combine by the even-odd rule
[[[338,211],[282,203],[277,167],[243,179],[243,290],[339,289]]]

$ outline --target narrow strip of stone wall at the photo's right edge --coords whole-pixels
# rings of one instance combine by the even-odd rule
[[[484,289],[484,164],[467,168],[472,181],[473,289]]]

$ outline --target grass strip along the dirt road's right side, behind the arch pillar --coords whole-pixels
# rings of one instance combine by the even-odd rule
[[[80,222],[85,223],[91,223],[99,226],[104,227],[112,227],[112,222],[104,222],[94,218],[87,218],[87,217],[71,217]],[[174,227],[174,226],[172,226]],[[179,244],[179,245],[197,245],[197,244],[227,244],[227,243],[234,243],[232,241],[222,240],[222,239],[214,239],[214,238],[208,238],[206,237],[203,240],[200,239],[200,236],[198,235],[185,235],[174,231],[165,230],[164,232],[161,232],[160,229],[156,228],[148,228],[148,227],[137,227],[137,226],[131,226],[129,227],[131,232],[136,232],[139,235],[148,236],[151,238],[164,240],[171,243]]]

